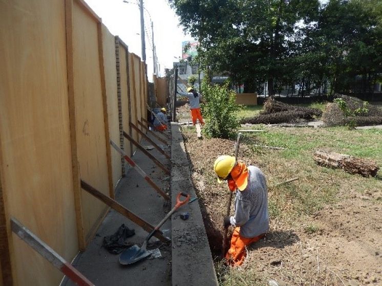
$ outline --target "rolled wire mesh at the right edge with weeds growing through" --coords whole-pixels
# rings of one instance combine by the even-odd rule
[[[357,108],[363,108],[364,106],[368,111],[357,116],[346,116],[337,103],[328,103],[322,116],[326,126],[343,126],[351,122],[358,126],[382,124],[382,109],[372,104],[365,105],[365,101],[355,97],[341,95],[339,98],[345,101],[347,108],[351,112],[355,112]]]

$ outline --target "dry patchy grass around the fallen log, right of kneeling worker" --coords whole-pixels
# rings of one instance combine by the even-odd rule
[[[341,190],[350,188],[358,192],[373,192],[382,188],[380,180],[322,167],[313,160],[315,150],[325,149],[376,160],[377,165],[381,166],[381,129],[268,128],[267,133],[245,134],[242,142],[249,146],[259,144],[288,148],[277,151],[249,148],[249,157],[257,161],[268,180],[271,218],[279,217],[293,221],[302,215],[310,215],[325,204],[336,202],[337,193]],[[382,172],[379,171],[379,176],[381,175]],[[295,177],[300,179],[273,187]]]

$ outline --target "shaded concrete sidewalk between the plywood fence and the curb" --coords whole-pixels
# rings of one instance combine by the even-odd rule
[[[158,142],[155,138],[150,138]],[[157,144],[163,146],[161,142]],[[142,140],[141,145],[150,144]],[[112,151],[114,152],[115,150]],[[165,151],[169,153],[170,149],[166,148]],[[170,168],[169,160],[159,151],[153,149],[149,152],[167,168]],[[132,159],[163,191],[168,192],[170,182],[168,175],[139,150],[135,152]],[[126,166],[128,166],[127,163]],[[139,215],[153,226],[157,225],[171,209],[171,202],[165,203],[166,201],[163,197],[132,168],[126,171],[126,176],[118,183],[115,197],[116,201],[121,205]],[[86,251],[79,253],[72,265],[97,286],[171,285],[171,246],[162,244],[156,237],[150,239],[147,249],[159,248],[162,257],[146,258],[130,266],[121,266],[119,254],[110,254],[102,248],[103,237],[114,234],[122,224],[135,230],[135,235],[130,237],[128,241],[140,247],[148,233],[112,209],[105,217]],[[167,220],[161,227],[161,230],[164,236],[171,237],[171,219]],[[71,286],[75,284],[64,278],[61,285]]]

